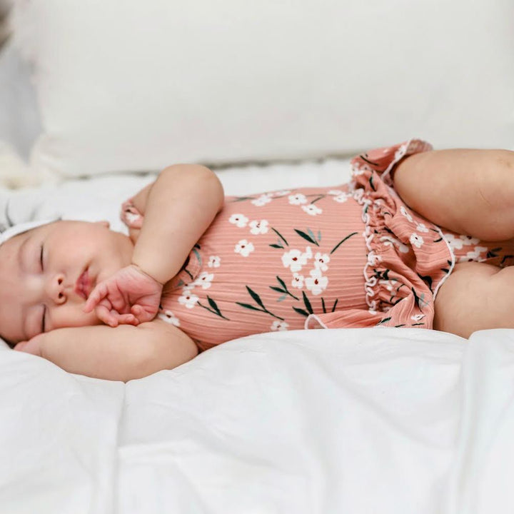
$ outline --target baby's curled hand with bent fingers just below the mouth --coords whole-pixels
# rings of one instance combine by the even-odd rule
[[[156,317],[163,285],[131,264],[96,287],[84,306],[84,312],[96,311],[107,325],[137,325]]]

